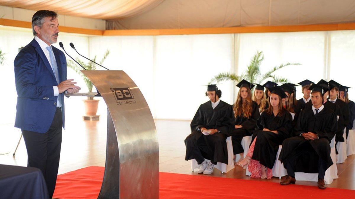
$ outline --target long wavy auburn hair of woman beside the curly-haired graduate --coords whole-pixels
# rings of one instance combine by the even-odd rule
[[[246,88],[248,92],[248,96],[246,97],[245,104],[243,104],[243,99],[240,95],[240,91],[242,88]],[[241,87],[238,91],[237,95],[237,100],[234,103],[233,110],[234,110],[234,116],[237,117],[244,117],[244,118],[250,118],[251,113],[253,112],[253,107],[252,107],[253,101],[251,100],[251,90],[249,87]]]

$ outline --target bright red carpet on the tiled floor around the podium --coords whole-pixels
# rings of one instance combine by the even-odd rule
[[[104,167],[90,166],[58,176],[53,198],[97,198]],[[354,198],[348,189],[160,172],[160,198]]]

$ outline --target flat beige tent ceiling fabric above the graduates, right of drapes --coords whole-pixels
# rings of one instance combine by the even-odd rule
[[[106,29],[217,28],[355,22],[355,0],[165,0]]]

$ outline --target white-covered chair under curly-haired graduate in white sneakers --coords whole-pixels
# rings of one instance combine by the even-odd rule
[[[220,170],[222,172],[222,174],[234,169],[232,137],[231,136],[227,137],[227,139],[225,141],[227,143],[228,164],[218,162],[217,165],[214,166],[216,169]],[[205,159],[205,161],[209,162],[210,160]],[[191,160],[192,171],[194,171],[198,167],[199,167],[199,165],[198,165],[196,159],[192,159]]]

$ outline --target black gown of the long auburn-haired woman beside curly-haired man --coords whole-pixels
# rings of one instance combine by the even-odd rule
[[[239,154],[243,153],[244,149],[241,145],[241,141],[244,136],[251,136],[256,127],[256,120],[259,118],[259,108],[256,102],[252,101],[252,113],[250,118],[245,118],[243,116],[236,116],[235,125],[242,125],[239,129],[234,129],[231,131],[233,153]]]

